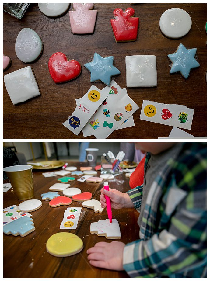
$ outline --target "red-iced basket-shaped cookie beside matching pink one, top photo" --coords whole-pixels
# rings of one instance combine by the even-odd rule
[[[133,8],[127,8],[124,12],[117,8],[114,10],[114,19],[111,19],[111,26],[117,42],[134,41],[137,39],[138,20],[132,17],[135,14]]]

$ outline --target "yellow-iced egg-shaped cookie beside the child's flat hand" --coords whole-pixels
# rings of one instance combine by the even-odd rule
[[[55,257],[68,257],[83,249],[82,239],[69,232],[53,234],[46,243],[47,252]]]

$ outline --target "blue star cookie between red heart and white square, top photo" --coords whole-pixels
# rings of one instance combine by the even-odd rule
[[[85,68],[90,71],[90,82],[100,80],[107,86],[111,83],[111,77],[120,74],[119,69],[113,65],[114,57],[101,57],[95,53],[93,60],[84,64]]]

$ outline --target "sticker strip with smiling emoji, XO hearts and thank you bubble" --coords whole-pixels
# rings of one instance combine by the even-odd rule
[[[78,136],[87,120],[93,116],[107,96],[108,93],[106,91],[102,92],[95,85],[92,85],[63,125]],[[97,124],[94,125],[97,126]]]

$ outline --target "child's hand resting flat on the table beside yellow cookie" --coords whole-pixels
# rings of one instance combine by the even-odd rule
[[[124,270],[123,269],[123,242],[99,242],[87,250],[89,263],[96,267]]]

